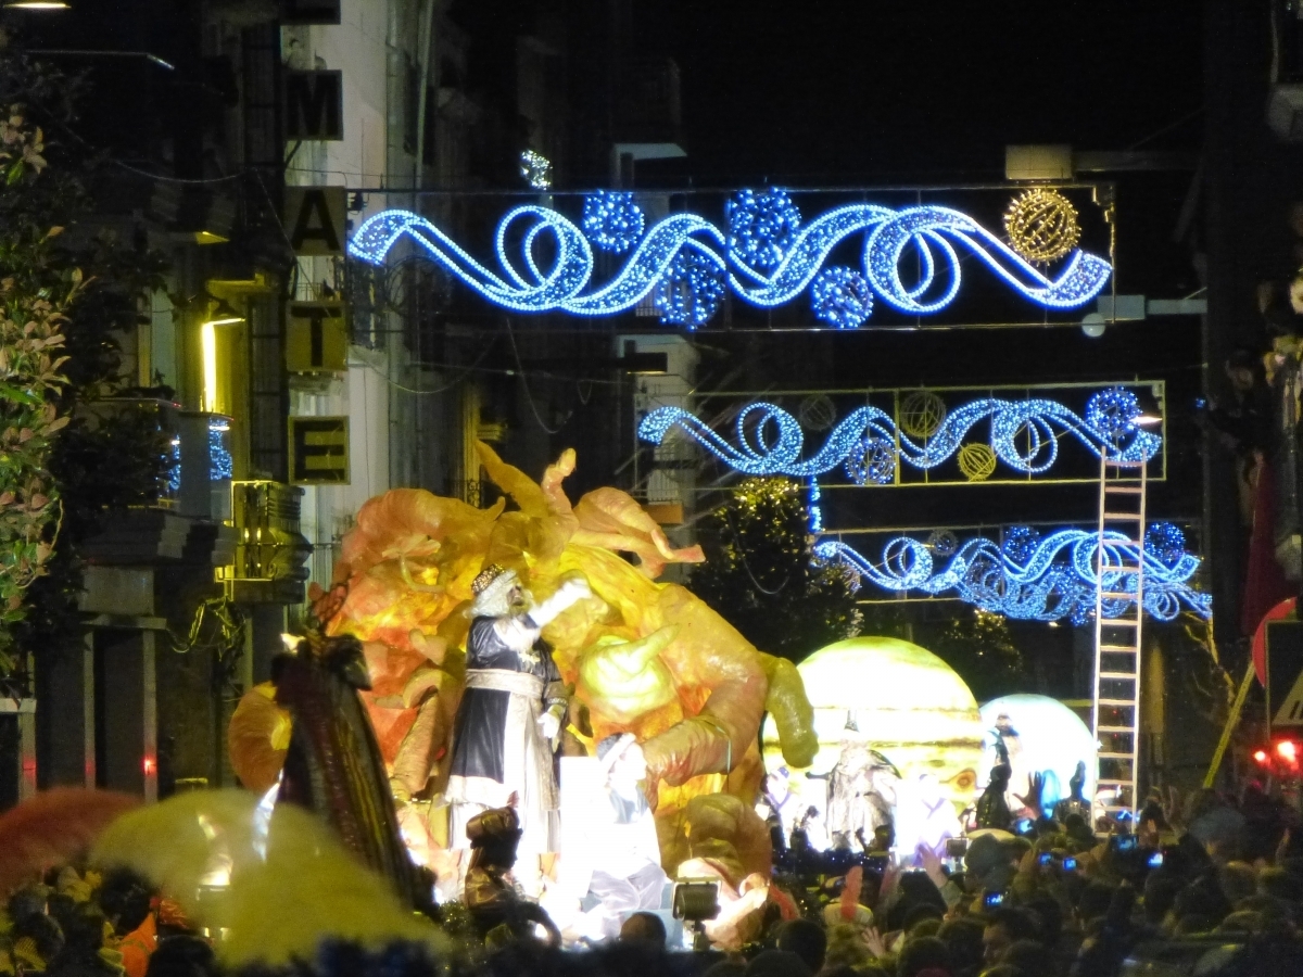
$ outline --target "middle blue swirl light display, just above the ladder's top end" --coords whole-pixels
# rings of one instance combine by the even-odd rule
[[[1101,409],[1101,404],[1110,409]],[[642,418],[638,436],[661,444],[670,429],[679,427],[715,457],[748,475],[813,478],[840,465],[857,485],[881,485],[893,478],[881,457],[883,449],[895,452],[902,464],[932,469],[955,455],[968,432],[988,419],[990,451],[1023,474],[1049,470],[1058,460],[1063,435],[1071,435],[1096,457],[1106,455],[1139,464],[1157,455],[1162,444],[1158,435],[1136,425],[1139,416],[1135,395],[1122,387],[1093,395],[1084,418],[1053,400],[985,397],[950,410],[932,436],[916,442],[899,430],[885,410],[866,405],[847,414],[818,451],[803,457],[805,435],[800,422],[774,404],[757,401],[737,414],[736,444],[687,410],[672,406],[657,408]]]

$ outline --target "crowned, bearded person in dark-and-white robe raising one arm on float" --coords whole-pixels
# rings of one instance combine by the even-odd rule
[[[466,679],[452,736],[448,842],[465,848],[466,825],[516,796],[521,823],[517,858],[521,882],[532,887],[539,856],[555,852],[556,774],[554,754],[566,715],[566,685],[542,629],[577,601],[592,597],[571,578],[534,604],[515,571],[493,564],[470,585]]]

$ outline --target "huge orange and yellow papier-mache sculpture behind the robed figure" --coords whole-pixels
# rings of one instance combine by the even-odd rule
[[[438,861],[446,840],[446,828],[430,823],[437,805],[422,800],[447,783],[472,581],[499,564],[537,599],[567,577],[588,580],[593,598],[543,630],[575,689],[563,750],[592,754],[614,732],[637,737],[666,869],[706,860],[734,885],[767,873],[769,835],[752,809],[764,776],[762,714],[774,716],[792,766],[809,765],[817,749],[796,668],[757,651],[689,590],[657,582],[667,564],[704,558],[696,546],[672,548],[632,496],[598,488],[572,505],[562,481],[575,470],[573,451],[536,483],[477,447],[517,509],[388,491],[358,512],[331,590],[310,590],[327,634],[364,642],[373,688],[362,694],[409,844]]]

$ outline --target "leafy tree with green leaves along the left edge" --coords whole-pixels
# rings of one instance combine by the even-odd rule
[[[0,56],[0,104],[26,103],[29,116],[39,116],[47,133],[69,133],[76,94],[76,79],[12,50]],[[16,673],[25,655],[17,651],[39,654],[81,640],[79,545],[103,528],[103,517],[112,509],[155,502],[168,464],[168,446],[151,413],[130,406],[109,413],[89,409],[108,397],[130,396],[134,378],[122,375],[119,337],[134,333],[145,320],[142,300],[163,287],[165,264],[143,244],[125,244],[99,223],[96,195],[112,194],[107,180],[111,165],[104,159],[70,134],[46,141],[40,130],[31,130],[31,138],[35,142],[21,151],[8,137],[0,146],[10,154],[0,159],[5,175],[0,184],[0,307],[21,328],[34,317],[38,323],[39,315],[56,317],[61,349],[44,343],[29,356],[36,357],[38,367],[42,354],[50,357],[50,371],[61,374],[60,383],[47,386],[42,410],[53,410],[53,422],[66,426],[46,446],[42,468],[40,494],[47,505],[55,505],[55,499],[61,504],[61,509],[53,509],[61,513],[57,546],[48,550],[55,543],[48,521],[38,542],[25,543],[18,567],[22,558],[30,567],[33,556],[43,556],[42,573],[29,581],[20,598],[21,620],[0,621],[0,685],[12,694],[25,692],[21,685],[26,676]],[[22,172],[14,180],[16,160],[22,163]],[[48,310],[40,302],[48,304]],[[13,339],[9,327],[5,330],[3,343],[8,348]],[[38,332],[31,335],[40,339]],[[66,353],[66,360],[56,357],[57,352]],[[22,391],[29,388],[21,386]],[[12,404],[5,400],[4,408]],[[8,417],[5,425],[12,426]],[[34,434],[22,440],[27,429]],[[22,447],[35,435],[30,425],[17,427]],[[30,462],[25,461],[29,468]],[[47,548],[42,550],[42,545]],[[3,593],[0,599],[14,610]]]

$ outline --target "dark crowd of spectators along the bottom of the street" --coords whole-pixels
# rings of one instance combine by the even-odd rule
[[[1303,974],[1303,828],[1251,786],[1152,797],[1138,831],[1098,839],[1079,814],[1023,834],[975,832],[951,864],[920,848],[908,868],[868,858],[846,875],[778,873],[741,950],[666,946],[654,913],[614,943],[562,950],[539,930],[482,939],[444,905],[461,951],[366,950],[327,941],[311,961],[245,977],[668,974],[671,977],[1113,977]],[[868,864],[865,864],[868,862]],[[826,868],[826,866],[825,866]],[[838,870],[844,868],[839,865]],[[853,875],[857,899],[842,887]],[[60,977],[210,977],[210,935],[129,874],[63,868],[14,892],[0,970]],[[468,942],[464,942],[468,941]],[[465,952],[468,946],[469,952]]]

